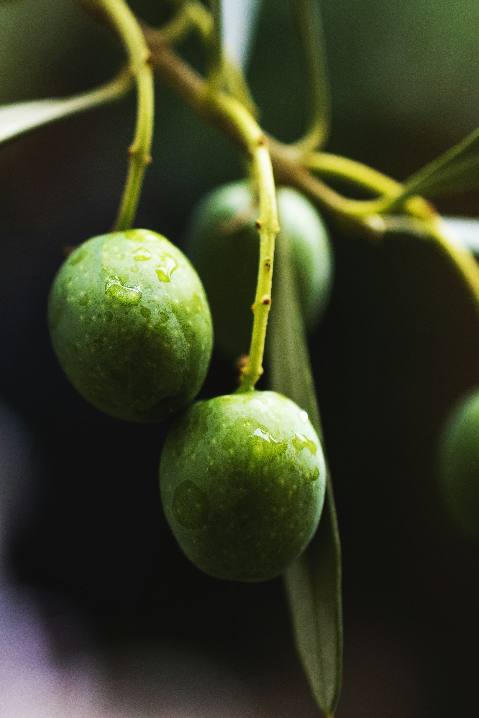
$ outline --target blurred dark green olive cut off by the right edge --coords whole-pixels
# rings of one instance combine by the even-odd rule
[[[452,412],[440,450],[442,490],[462,531],[479,538],[479,392]]]

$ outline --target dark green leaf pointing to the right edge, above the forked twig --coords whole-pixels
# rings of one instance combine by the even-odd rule
[[[404,182],[395,206],[411,195],[434,197],[479,186],[479,128]]]

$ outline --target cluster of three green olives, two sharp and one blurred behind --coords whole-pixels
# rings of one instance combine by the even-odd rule
[[[330,243],[302,195],[282,188],[278,204],[312,325],[330,292]],[[126,421],[175,417],[159,467],[167,521],[197,567],[238,581],[275,577],[301,554],[320,520],[326,480],[317,433],[286,397],[251,390],[192,404],[208,371],[213,324],[223,353],[248,350],[257,215],[247,182],[203,200],[189,243],[205,288],[157,233],[94,237],[58,271],[48,310],[55,354],[87,401]]]

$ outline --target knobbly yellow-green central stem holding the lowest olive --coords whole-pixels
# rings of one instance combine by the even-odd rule
[[[268,140],[246,108],[225,93],[207,90],[206,106],[214,113],[223,113],[231,121],[251,157],[259,191],[259,269],[256,297],[253,305],[253,332],[248,364],[241,373],[238,391],[251,391],[263,373],[264,340],[271,307],[271,281],[273,278],[274,240],[279,231],[276,209],[273,167],[269,156]],[[234,268],[231,268],[234,271]]]

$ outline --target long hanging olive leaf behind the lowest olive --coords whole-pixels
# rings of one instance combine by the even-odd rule
[[[282,233],[277,238],[274,273],[271,386],[307,411],[322,439],[296,280]],[[342,679],[343,612],[340,538],[329,468],[320,526],[310,546],[287,570],[285,584],[299,656],[317,704],[330,717]]]

